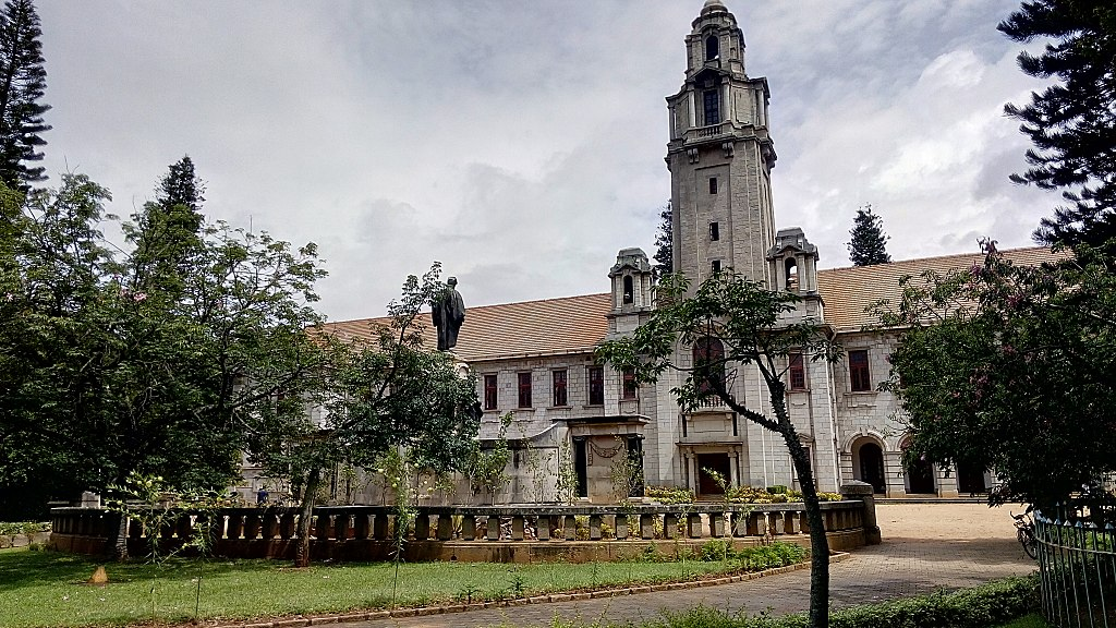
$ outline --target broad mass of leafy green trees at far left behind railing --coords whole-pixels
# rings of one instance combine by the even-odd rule
[[[88,178],[65,175],[16,217],[11,315],[0,325],[0,484],[39,507],[45,494],[28,487],[104,492],[133,472],[183,489],[228,486],[248,419],[279,390],[323,386],[325,355],[305,331],[320,322],[314,245],[296,250],[221,223],[166,229],[148,204],[125,226],[133,249],[122,254],[97,230],[107,199]],[[157,264],[186,249],[179,264]]]

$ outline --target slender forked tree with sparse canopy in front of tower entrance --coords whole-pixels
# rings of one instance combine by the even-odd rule
[[[801,483],[810,526],[810,626],[827,626],[829,545],[810,459],[788,413],[783,377],[792,352],[833,362],[840,349],[809,320],[780,321],[795,310],[799,296],[769,291],[733,273],[714,274],[689,297],[690,282],[680,273],[664,278],[657,289],[661,305],[651,320],[631,336],[602,344],[598,358],[617,370],[632,369],[642,382],[653,382],[667,370],[680,371],[684,382],[672,392],[681,411],[693,411],[702,400],[715,397],[782,437]],[[695,348],[700,359],[693,367],[674,361],[679,346]],[[744,382],[756,381],[752,373],[767,388],[770,413],[740,401]]]

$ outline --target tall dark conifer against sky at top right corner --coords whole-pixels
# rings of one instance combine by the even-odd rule
[[[1116,6],[1104,0],[1035,0],[1000,23],[1023,44],[1051,39],[1042,54],[1019,54],[1019,67],[1057,77],[1023,107],[1004,105],[1035,144],[1016,183],[1062,190],[1068,206],[1043,218],[1035,239],[1100,246],[1116,237]]]

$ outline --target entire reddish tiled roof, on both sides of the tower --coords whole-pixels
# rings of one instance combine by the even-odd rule
[[[1033,265],[1056,259],[1049,249],[1020,248],[1003,251],[1016,264]],[[875,320],[865,310],[878,299],[899,297],[899,277],[917,276],[926,269],[945,273],[983,261],[981,254],[924,257],[850,268],[818,272],[818,292],[825,299],[826,322],[838,331],[856,331]],[[468,296],[468,295],[465,295]],[[587,294],[543,301],[468,307],[453,353],[466,362],[501,358],[554,355],[591,351],[608,332],[606,315],[610,295]],[[420,316],[431,349],[437,333],[430,314]],[[326,331],[341,339],[373,339],[373,324],[388,318],[360,318],[328,323]]]

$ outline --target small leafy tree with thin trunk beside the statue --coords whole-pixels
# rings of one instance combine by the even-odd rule
[[[480,422],[477,382],[458,372],[453,356],[431,351],[423,340],[420,311],[445,289],[435,266],[421,279],[410,276],[402,298],[388,305],[389,323],[374,324],[372,344],[353,344],[315,334],[328,353],[326,387],[317,398],[287,394],[276,411],[261,408],[249,427],[248,453],[269,474],[301,486],[296,564],[309,564],[310,514],[323,470],[338,464],[372,468],[389,449],[402,448],[420,469],[464,470]],[[287,405],[325,408],[279,412]]]

